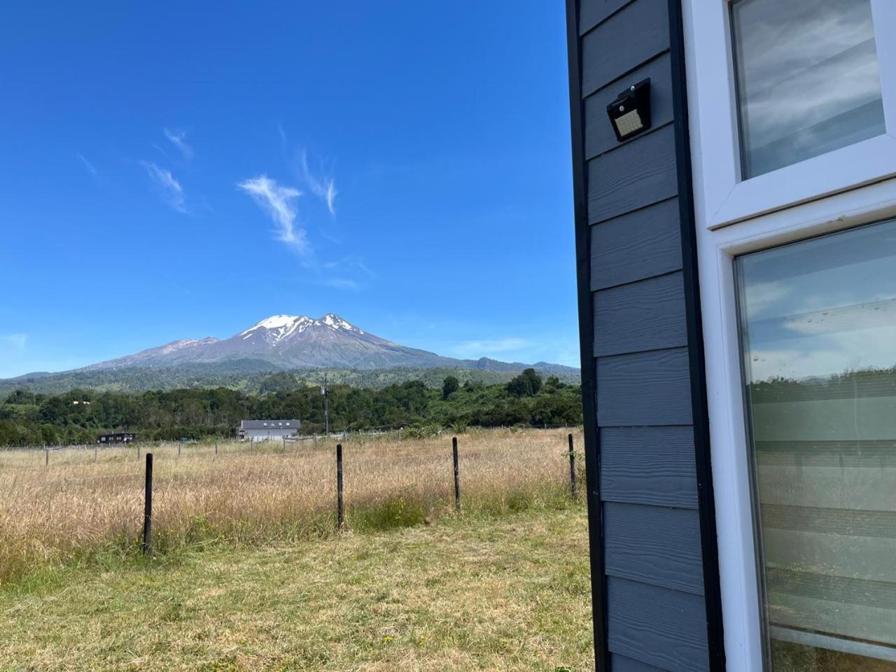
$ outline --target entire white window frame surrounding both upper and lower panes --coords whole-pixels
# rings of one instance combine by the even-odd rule
[[[728,672],[763,669],[734,260],[896,218],[896,0],[871,0],[887,134],[740,180],[728,0],[683,0],[694,214]]]

